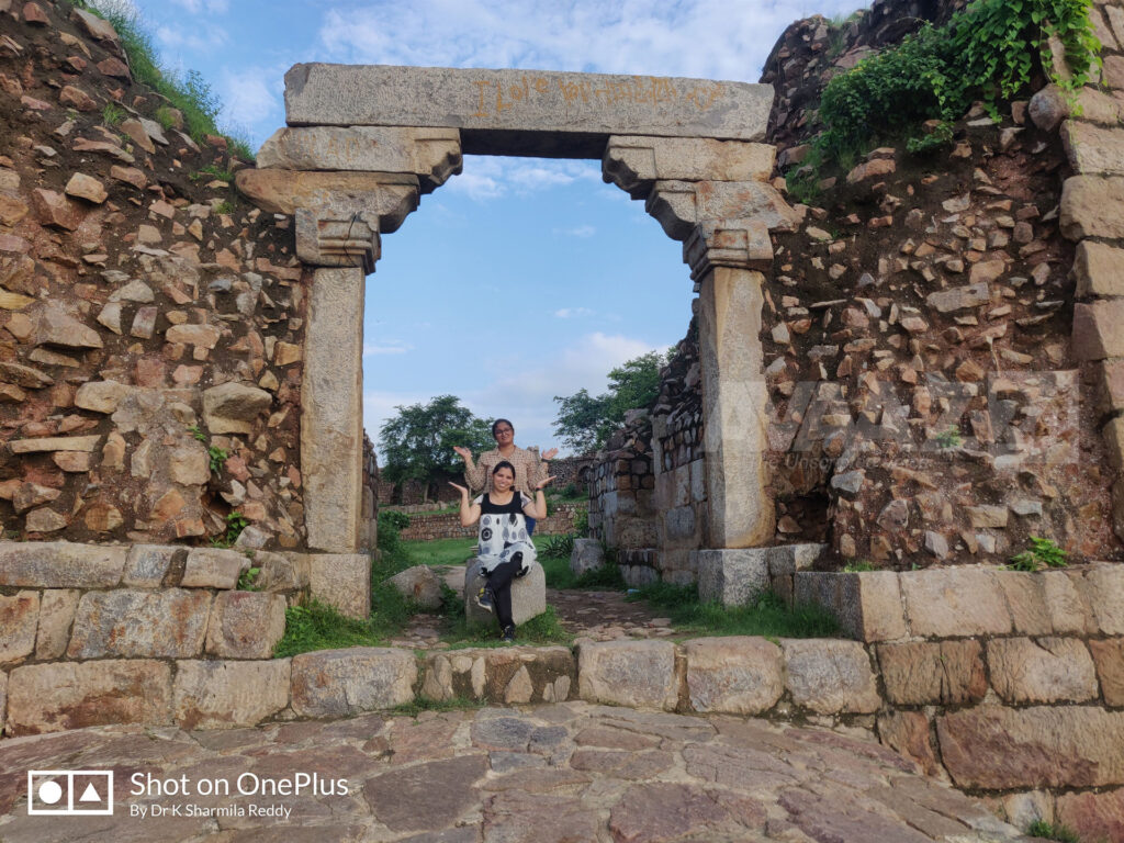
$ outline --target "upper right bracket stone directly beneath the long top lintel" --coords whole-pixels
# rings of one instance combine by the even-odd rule
[[[656,181],[765,181],[777,149],[769,144],[709,137],[613,136],[601,158],[602,178],[633,199],[646,199]]]

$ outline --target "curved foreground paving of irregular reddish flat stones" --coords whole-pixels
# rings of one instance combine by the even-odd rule
[[[29,816],[28,769],[112,768],[114,816]],[[132,796],[157,780],[346,779],[336,795]],[[245,779],[248,781],[250,779]],[[151,816],[153,805],[181,816]],[[210,815],[188,816],[187,806]],[[250,816],[284,806],[288,817]],[[149,815],[132,817],[133,806]],[[234,806],[246,812],[235,816]],[[225,813],[215,814],[215,809]],[[566,703],[273,724],[107,726],[0,743],[0,840],[409,843],[923,843],[1023,840],[898,755],[764,720]]]

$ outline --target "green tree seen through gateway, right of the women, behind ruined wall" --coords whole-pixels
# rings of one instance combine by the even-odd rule
[[[625,361],[609,372],[609,391],[602,395],[579,389],[572,396],[554,396],[559,405],[554,433],[579,454],[599,448],[624,424],[625,413],[652,406],[660,395],[660,369],[673,351]]]

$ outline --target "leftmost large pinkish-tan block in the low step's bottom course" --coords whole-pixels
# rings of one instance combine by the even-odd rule
[[[172,669],[157,661],[114,659],[16,668],[8,679],[9,735],[85,726],[171,722]]]

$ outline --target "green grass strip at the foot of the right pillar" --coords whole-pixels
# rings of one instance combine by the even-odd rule
[[[752,606],[725,607],[699,602],[696,586],[655,582],[629,600],[646,600],[667,613],[672,625],[688,635],[762,635],[764,637],[821,638],[839,633],[835,617],[818,606],[792,609],[777,595],[762,593]]]

